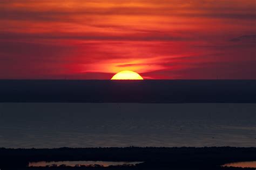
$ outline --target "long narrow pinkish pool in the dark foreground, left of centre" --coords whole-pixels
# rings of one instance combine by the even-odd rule
[[[142,162],[110,162],[110,161],[41,161],[41,162],[29,162],[29,167],[51,167],[51,166],[92,166],[92,165],[100,165],[100,166],[116,166],[116,165],[136,165]]]

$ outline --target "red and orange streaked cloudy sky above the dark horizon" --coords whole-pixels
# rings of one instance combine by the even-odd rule
[[[255,0],[1,0],[0,79],[256,79]]]

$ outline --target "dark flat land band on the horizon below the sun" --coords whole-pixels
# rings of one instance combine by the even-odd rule
[[[0,80],[0,102],[256,103],[256,80]]]

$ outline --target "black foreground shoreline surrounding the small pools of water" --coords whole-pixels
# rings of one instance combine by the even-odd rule
[[[5,169],[243,169],[220,167],[228,162],[255,161],[256,148],[236,147],[126,147],[126,148],[0,148]],[[32,161],[142,161],[136,166],[28,167]],[[254,168],[244,168],[254,169]]]

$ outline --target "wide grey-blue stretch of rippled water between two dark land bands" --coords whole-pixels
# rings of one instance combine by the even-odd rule
[[[0,147],[256,147],[256,104],[0,103]]]

